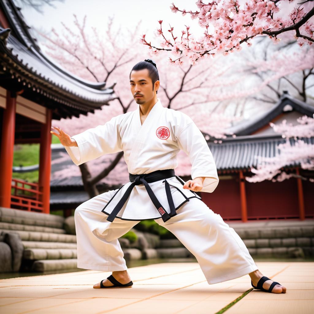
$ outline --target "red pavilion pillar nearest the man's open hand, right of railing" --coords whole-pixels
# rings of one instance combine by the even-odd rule
[[[50,171],[51,171],[51,109],[46,110],[46,123],[41,126],[39,155],[39,191],[43,192],[43,212],[50,213]]]

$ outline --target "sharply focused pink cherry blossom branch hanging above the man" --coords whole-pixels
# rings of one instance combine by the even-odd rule
[[[181,12],[183,16],[189,14],[192,20],[197,19],[204,30],[201,38],[195,38],[187,25],[180,35],[175,34],[171,25],[165,32],[163,20],[159,20],[159,47],[152,45],[145,34],[142,44],[147,45],[152,54],[171,51],[176,59],[169,57],[170,63],[195,65],[216,54],[227,56],[241,50],[243,43],[251,46],[251,39],[256,36],[269,36],[275,44],[282,38],[295,38],[300,46],[311,46],[314,42],[312,0],[215,0],[208,3],[198,0],[196,5],[199,11],[179,8],[174,3],[170,8],[174,14]]]

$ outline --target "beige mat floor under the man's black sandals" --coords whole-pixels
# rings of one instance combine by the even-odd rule
[[[314,313],[314,263],[257,262],[287,288],[285,294],[252,290],[225,313]],[[0,313],[217,313],[252,288],[249,275],[209,285],[198,263],[128,268],[133,287],[93,289],[110,272],[82,272],[0,280]]]

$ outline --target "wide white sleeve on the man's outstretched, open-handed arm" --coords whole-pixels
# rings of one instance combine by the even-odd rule
[[[116,116],[103,125],[73,135],[78,147],[65,146],[65,149],[74,164],[78,166],[101,155],[122,151],[119,121]]]

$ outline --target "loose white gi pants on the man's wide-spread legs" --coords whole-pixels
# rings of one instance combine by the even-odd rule
[[[102,193],[79,205],[74,212],[78,268],[104,272],[127,269],[117,239],[139,221],[120,218],[107,221],[108,216],[101,210],[110,198],[110,193]],[[155,221],[171,231],[196,257],[208,284],[235,279],[258,269],[240,236],[203,201],[191,198],[176,212],[166,222],[161,218]]]

